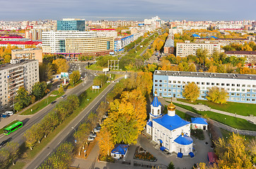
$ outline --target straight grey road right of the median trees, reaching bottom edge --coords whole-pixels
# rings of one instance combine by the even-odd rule
[[[68,139],[73,133],[74,129],[76,129],[87,117],[88,113],[93,111],[95,108],[98,107],[98,104],[100,104],[100,101],[102,101],[108,92],[112,90],[112,88],[115,86],[115,82],[111,83],[99,96],[97,96],[91,104],[89,104],[79,115],[74,118],[74,120],[69,123],[59,134],[54,137],[52,142],[47,144],[45,146],[45,149],[43,149],[40,154],[38,154],[33,161],[28,163],[28,165],[25,166],[25,168],[28,169],[35,169],[40,166],[40,164],[45,161],[47,156],[52,154],[55,149],[57,149],[57,146],[61,144],[62,142],[65,142],[66,139]]]

